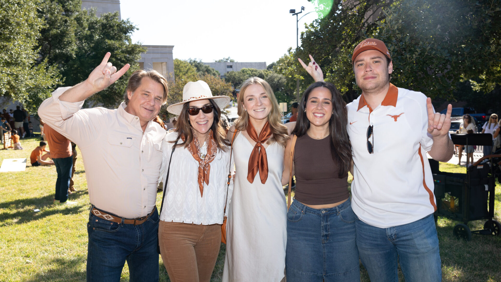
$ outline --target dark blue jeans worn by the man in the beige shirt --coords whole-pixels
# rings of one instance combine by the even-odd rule
[[[136,226],[91,213],[87,223],[87,281],[119,282],[127,260],[129,281],[158,282],[158,219],[156,207],[145,222]]]

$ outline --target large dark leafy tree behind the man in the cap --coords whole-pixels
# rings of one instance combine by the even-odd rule
[[[326,80],[351,101],[360,92],[351,64],[353,49],[374,37],[390,50],[391,81],[399,87],[450,99],[458,82],[469,79],[476,90],[488,92],[501,76],[501,61],[495,59],[501,57],[500,4],[499,0],[337,0],[326,17],[302,33],[302,49],[281,58],[279,70],[288,81],[299,77],[309,84],[308,74],[297,69],[299,64],[290,64],[297,57],[309,61],[312,54]]]

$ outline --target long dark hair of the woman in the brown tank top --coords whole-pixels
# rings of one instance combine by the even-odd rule
[[[348,131],[346,130],[346,124],[348,123],[348,110],[346,109],[346,103],[339,94],[338,89],[334,84],[329,82],[315,82],[306,89],[301,97],[298,108],[298,120],[296,121],[296,127],[292,131],[298,137],[306,134],[306,131],[310,128],[310,120],[306,116],[305,108],[306,101],[313,89],[317,87],[324,87],[331,91],[332,95],[332,108],[333,113],[331,119],[329,120],[329,138],[331,140],[331,156],[332,160],[338,163],[339,172],[338,177],[346,177],[351,166],[351,144],[348,138]]]

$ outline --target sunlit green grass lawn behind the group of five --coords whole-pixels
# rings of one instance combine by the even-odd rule
[[[29,164],[30,153],[38,143],[38,138],[22,139],[25,150],[0,151],[0,163],[4,159],[28,158]],[[440,170],[465,172],[464,167],[443,163]],[[79,192],[70,195],[70,200],[78,204],[62,207],[52,205],[54,166],[28,165],[25,172],[0,173],[0,281],[85,281],[89,195],[80,151],[74,181]],[[501,185],[496,184],[495,218],[501,221]],[[157,194],[158,207],[161,196]],[[439,218],[437,224],[443,280],[501,281],[501,236],[473,235],[466,242],[452,235],[456,223]],[[468,226],[475,230],[483,223],[474,221]],[[224,246],[212,281],[221,280]],[[160,258],[159,267],[160,281],[169,281]],[[369,281],[365,270],[361,273],[362,281]],[[122,281],[128,278],[125,265]]]

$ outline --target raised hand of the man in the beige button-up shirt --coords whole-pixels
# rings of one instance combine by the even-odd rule
[[[108,62],[111,53],[104,55],[103,61],[89,75],[86,82],[92,87],[93,92],[99,92],[117,81],[129,69],[126,64],[117,71],[117,68]]]

